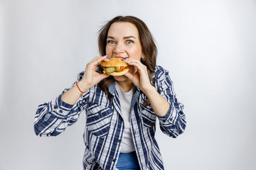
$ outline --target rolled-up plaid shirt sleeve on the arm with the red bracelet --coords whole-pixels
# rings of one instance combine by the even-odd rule
[[[73,86],[75,86],[75,83]],[[38,106],[34,119],[36,135],[59,135],[65,128],[73,125],[78,120],[80,113],[84,111],[87,106],[89,91],[83,94],[74,105],[70,105],[61,100],[61,96],[69,89],[65,89],[63,93],[53,101]]]

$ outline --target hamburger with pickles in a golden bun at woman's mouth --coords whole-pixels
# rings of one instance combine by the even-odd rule
[[[109,62],[100,62],[100,66],[104,69],[104,73],[111,76],[122,76],[129,71],[129,65],[122,61],[120,57],[111,58]]]

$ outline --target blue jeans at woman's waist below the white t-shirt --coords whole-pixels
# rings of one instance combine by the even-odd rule
[[[120,153],[116,168],[119,170],[138,170],[139,162],[136,156],[136,152],[127,154]]]

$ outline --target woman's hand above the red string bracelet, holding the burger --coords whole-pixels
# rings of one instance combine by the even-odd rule
[[[107,58],[107,55],[105,55],[103,57],[95,57],[86,64],[84,75],[78,82],[81,91],[87,91],[92,86],[99,83],[102,79],[110,76],[108,74],[100,74],[95,72],[97,65],[102,61],[108,62],[110,60]]]

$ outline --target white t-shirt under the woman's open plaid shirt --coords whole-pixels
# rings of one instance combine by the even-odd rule
[[[118,83],[115,85],[117,89],[117,93],[119,95],[119,101],[122,111],[122,118],[124,119],[124,137],[121,144],[121,153],[129,153],[134,152],[134,142],[132,140],[132,131],[130,128],[130,110],[131,110],[131,104],[132,104],[132,96],[134,94],[135,89],[132,88],[132,90],[128,92],[124,92]]]

